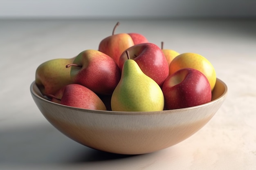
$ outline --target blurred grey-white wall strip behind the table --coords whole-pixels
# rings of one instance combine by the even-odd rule
[[[0,0],[0,18],[256,17],[256,0]]]

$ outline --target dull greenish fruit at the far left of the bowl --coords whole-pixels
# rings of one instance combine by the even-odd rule
[[[58,90],[73,81],[70,76],[70,69],[67,64],[74,61],[73,58],[58,58],[48,60],[36,69],[36,85],[43,95],[53,95]]]

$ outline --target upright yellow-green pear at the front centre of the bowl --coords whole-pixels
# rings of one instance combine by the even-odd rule
[[[113,111],[161,111],[164,95],[160,86],[145,75],[137,62],[130,59],[124,63],[121,79],[111,97]]]

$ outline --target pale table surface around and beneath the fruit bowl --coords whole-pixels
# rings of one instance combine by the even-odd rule
[[[29,86],[39,64],[98,49],[112,33],[137,32],[179,53],[206,57],[228,96],[188,139],[145,155],[93,150],[56,130]],[[1,170],[255,170],[256,20],[0,20]]]

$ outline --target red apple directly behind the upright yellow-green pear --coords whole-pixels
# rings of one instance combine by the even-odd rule
[[[153,43],[143,43],[127,49],[130,59],[137,62],[141,71],[162,86],[169,74],[169,66],[162,50]],[[122,70],[124,62],[128,60],[126,52],[121,54],[119,67]]]

